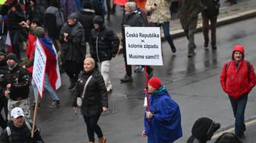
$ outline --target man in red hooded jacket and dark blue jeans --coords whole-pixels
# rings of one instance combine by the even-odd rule
[[[249,92],[254,87],[256,77],[254,66],[244,60],[244,46],[233,47],[232,60],[226,62],[220,75],[222,89],[229,95],[235,121],[235,134],[244,137],[244,110]]]

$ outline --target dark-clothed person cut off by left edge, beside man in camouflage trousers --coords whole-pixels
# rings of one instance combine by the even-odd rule
[[[5,97],[4,91],[6,89],[6,75],[8,74],[8,65],[6,63],[6,54],[5,50],[0,50],[0,127],[4,130],[7,126],[7,115],[8,108],[7,103],[8,99]],[[5,116],[2,115],[2,109],[5,111]]]

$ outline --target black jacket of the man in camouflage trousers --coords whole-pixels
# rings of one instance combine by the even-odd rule
[[[6,75],[6,84],[11,84],[10,99],[27,99],[30,93],[30,75],[26,68],[15,65]]]

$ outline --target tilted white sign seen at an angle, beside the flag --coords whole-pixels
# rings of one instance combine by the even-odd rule
[[[38,92],[42,98],[44,90],[44,73],[46,65],[46,55],[41,47],[40,41],[37,39],[36,47],[34,51],[34,66],[32,78],[37,85]]]

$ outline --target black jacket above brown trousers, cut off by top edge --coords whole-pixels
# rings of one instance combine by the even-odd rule
[[[202,0],[202,15],[207,17],[219,15],[219,0]]]

